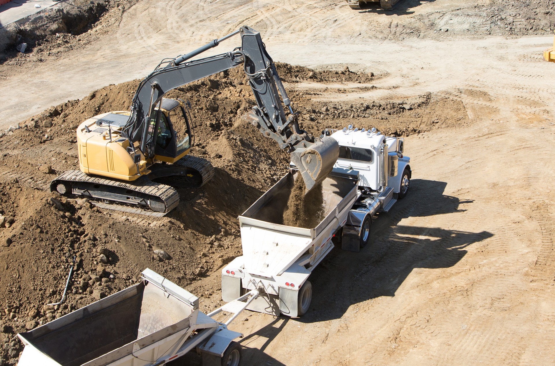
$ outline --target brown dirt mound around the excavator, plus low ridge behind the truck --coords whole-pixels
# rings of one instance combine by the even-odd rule
[[[316,72],[286,64],[278,64],[278,70],[289,86],[309,79],[371,81],[369,74]],[[128,109],[138,83],[99,89],[0,134],[0,215],[9,222],[0,228],[0,303],[4,306],[0,363],[17,363],[22,348],[16,333],[137,282],[145,268],[203,297],[203,309],[217,307],[221,303],[218,288],[196,287],[195,282],[240,255],[236,217],[288,169],[288,154],[240,118],[255,101],[244,74],[231,70],[168,94],[191,102],[195,133],[191,153],[208,159],[216,174],[201,189],[178,189],[180,204],[166,217],[99,209],[87,199],[67,199],[49,192],[49,181],[56,174],[77,166],[78,124],[99,113]],[[315,134],[325,127],[346,126],[355,118],[353,113],[359,116],[363,112],[370,117],[361,121],[369,124],[382,121],[386,126],[395,117],[397,127],[391,128],[410,134],[439,126],[432,119],[443,118],[437,116],[447,113],[440,107],[448,103],[428,95],[410,102],[411,108],[398,107],[408,101],[326,103],[328,111],[322,112],[322,103],[313,101],[312,95],[294,87],[287,92],[295,108],[308,115],[301,125]],[[455,122],[449,123],[465,122],[462,116],[450,113]],[[74,258],[75,274],[66,302],[59,307],[46,305],[61,298]]]

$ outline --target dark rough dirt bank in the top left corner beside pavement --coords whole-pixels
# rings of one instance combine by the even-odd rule
[[[0,29],[0,64],[42,62],[85,46],[117,26],[138,0],[68,0]],[[25,53],[16,47],[26,44]],[[32,55],[31,55],[32,53]]]

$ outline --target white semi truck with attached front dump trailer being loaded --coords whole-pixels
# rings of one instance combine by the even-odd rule
[[[307,312],[312,271],[341,239],[341,248],[359,252],[369,242],[372,216],[387,212],[408,192],[410,158],[402,138],[375,128],[326,129],[340,146],[330,175],[322,181],[325,217],[314,228],[283,224],[296,175],[290,171],[239,216],[243,255],[221,270],[222,298],[233,307],[241,295],[259,293],[247,309],[290,317]],[[235,304],[238,307],[243,302]]]

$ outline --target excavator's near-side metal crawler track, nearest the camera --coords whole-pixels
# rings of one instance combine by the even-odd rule
[[[153,182],[149,177],[123,182],[67,171],[51,182],[50,189],[63,195],[98,200],[93,203],[102,208],[154,216],[163,216],[179,204],[179,193],[174,188]]]

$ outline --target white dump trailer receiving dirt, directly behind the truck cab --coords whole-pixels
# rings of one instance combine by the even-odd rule
[[[297,295],[311,271],[334,247],[331,238],[359,197],[357,172],[332,172],[322,181],[324,218],[311,228],[284,224],[284,212],[296,179],[287,173],[239,216],[243,255],[222,270],[222,296],[231,301],[258,289],[248,309],[299,315]]]

